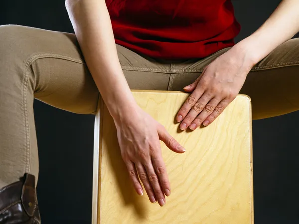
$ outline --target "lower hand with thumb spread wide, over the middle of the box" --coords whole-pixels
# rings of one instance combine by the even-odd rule
[[[185,149],[163,125],[138,106],[115,121],[115,125],[121,155],[136,192],[143,194],[141,180],[149,200],[165,205],[165,195],[169,196],[171,189],[159,140],[176,153],[183,153]]]

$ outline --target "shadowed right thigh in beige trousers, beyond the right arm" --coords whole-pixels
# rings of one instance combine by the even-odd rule
[[[299,38],[281,44],[257,63],[240,93],[251,97],[253,119],[299,110]]]

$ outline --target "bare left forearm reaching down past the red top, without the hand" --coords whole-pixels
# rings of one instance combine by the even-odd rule
[[[105,0],[66,0],[88,69],[114,119],[136,106],[121,69]]]

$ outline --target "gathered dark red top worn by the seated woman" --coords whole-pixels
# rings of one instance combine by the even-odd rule
[[[115,42],[154,58],[203,58],[234,45],[230,0],[106,0]]]

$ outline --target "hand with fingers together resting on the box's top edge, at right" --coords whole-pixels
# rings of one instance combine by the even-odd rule
[[[253,66],[246,51],[235,45],[205,67],[195,82],[184,87],[192,93],[176,116],[182,121],[180,128],[194,130],[213,122],[236,98]]]

